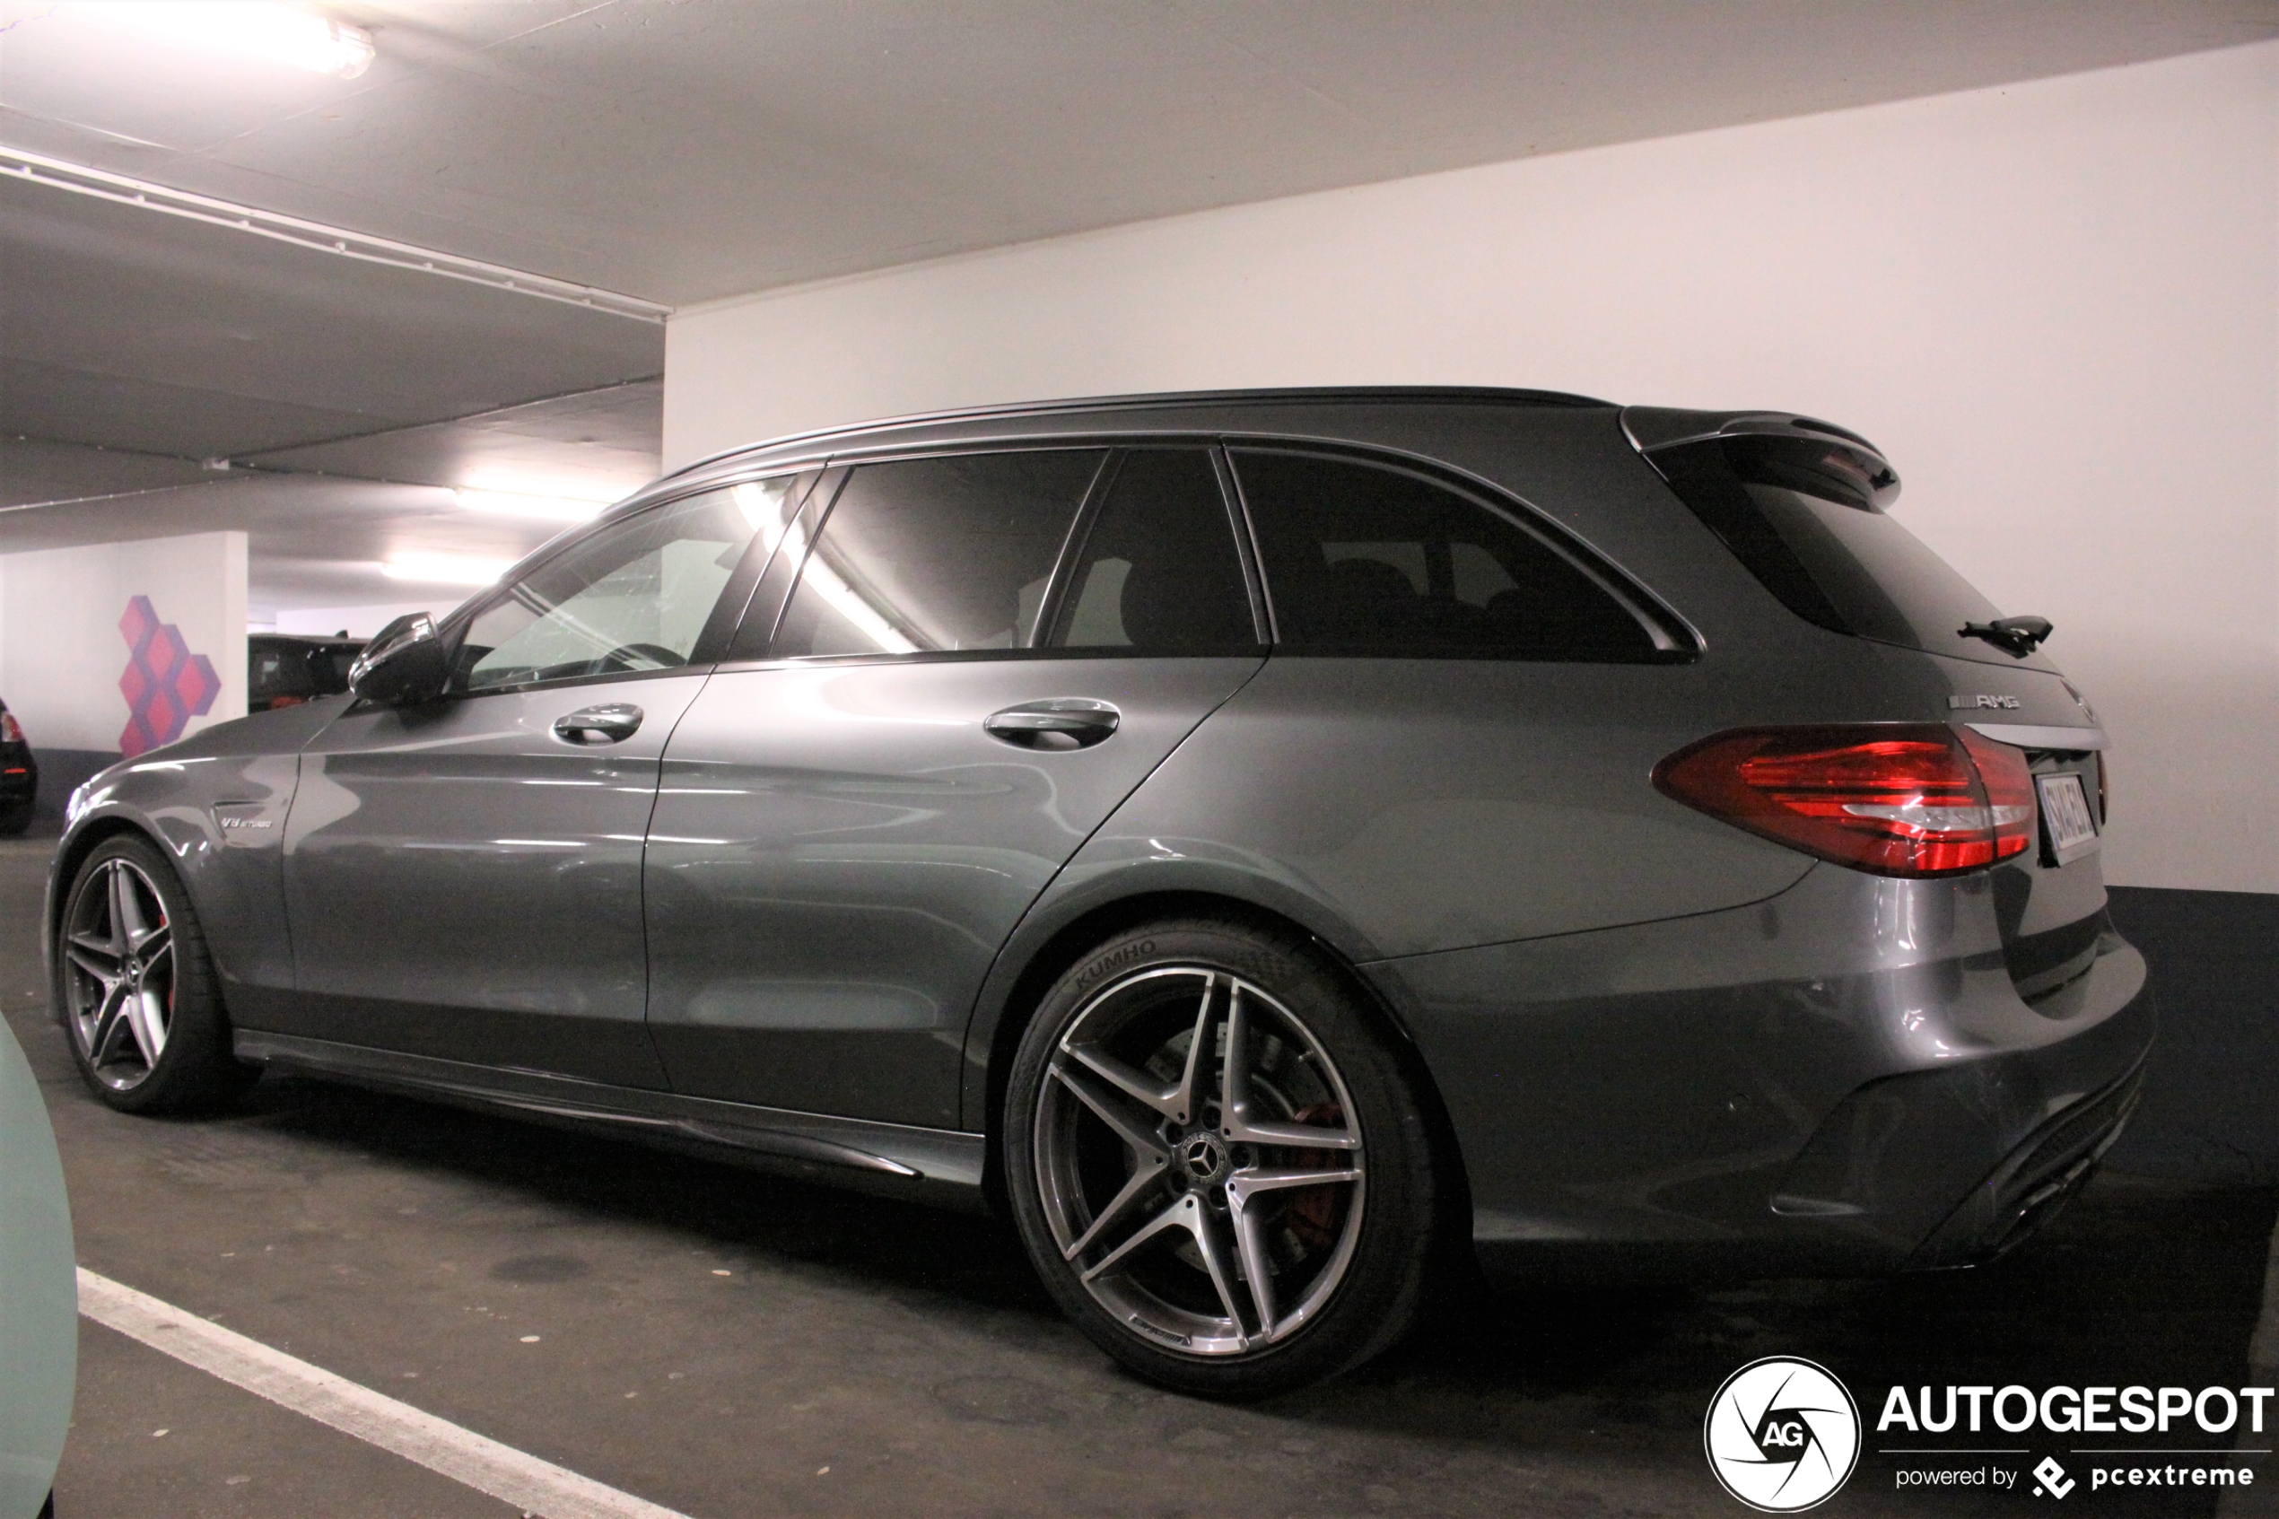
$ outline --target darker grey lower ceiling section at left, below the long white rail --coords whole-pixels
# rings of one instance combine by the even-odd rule
[[[663,330],[0,178],[0,430],[244,458],[654,376]]]

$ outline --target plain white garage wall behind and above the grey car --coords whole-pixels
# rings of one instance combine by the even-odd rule
[[[2279,890],[2279,46],[1397,180],[713,303],[665,465],[1215,385],[1796,408],[2115,733],[2106,870]]]

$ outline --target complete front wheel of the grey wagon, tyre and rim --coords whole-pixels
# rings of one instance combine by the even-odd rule
[[[207,1107],[255,1075],[230,1054],[230,1023],[189,895],[141,836],[105,840],[73,877],[55,982],[80,1075],[121,1111]]]

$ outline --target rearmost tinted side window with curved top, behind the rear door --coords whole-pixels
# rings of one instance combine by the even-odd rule
[[[1288,651],[1664,658],[1598,581],[1470,496],[1356,460],[1263,449],[1231,458]]]

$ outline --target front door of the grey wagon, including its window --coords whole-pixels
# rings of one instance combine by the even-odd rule
[[[640,925],[659,758],[800,485],[604,524],[465,619],[442,699],[356,704],[310,742],[285,1032],[663,1086]]]

